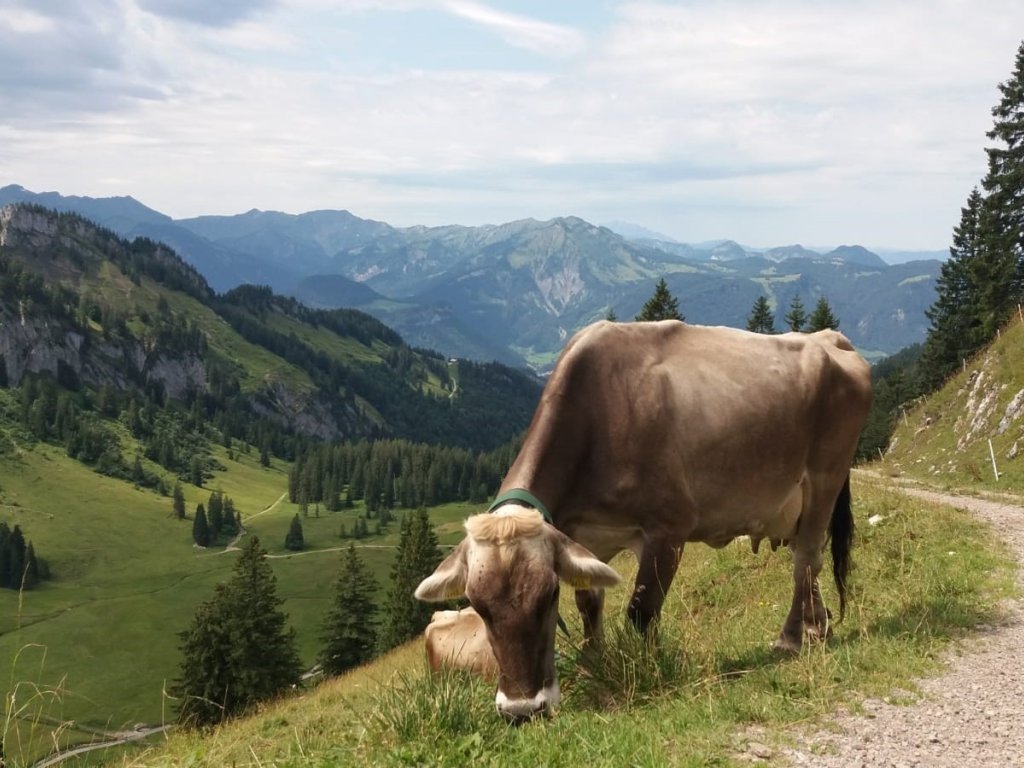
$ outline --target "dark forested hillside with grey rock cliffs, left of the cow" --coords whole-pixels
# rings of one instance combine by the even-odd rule
[[[39,390],[41,429],[66,428],[56,400],[81,391],[78,408],[125,410],[162,440],[190,420],[289,458],[309,438],[482,450],[523,429],[539,392],[526,374],[412,349],[361,312],[251,286],[218,296],[165,246],[38,207],[0,212],[0,297],[4,383]],[[179,427],[158,428],[170,402]]]

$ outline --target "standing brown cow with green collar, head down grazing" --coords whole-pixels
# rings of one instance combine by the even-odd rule
[[[563,350],[497,511],[466,521],[416,596],[469,598],[512,721],[558,702],[559,580],[598,637],[603,588],[618,581],[605,563],[627,549],[638,560],[627,613],[643,631],[687,542],[788,545],[793,603],[775,645],[799,650],[805,625],[828,633],[817,575],[829,537],[841,616],[846,607],[850,464],[870,401],[867,364],[835,331],[597,323]]]

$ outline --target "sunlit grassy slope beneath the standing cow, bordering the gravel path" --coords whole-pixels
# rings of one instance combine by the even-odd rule
[[[581,673],[578,649],[559,639],[564,699],[551,721],[505,727],[488,686],[427,677],[422,647],[412,643],[251,718],[212,733],[175,733],[113,756],[113,764],[745,764],[736,756],[751,726],[771,741],[840,703],[912,690],[912,677],[934,669],[951,639],[998,616],[1012,589],[1005,549],[965,513],[865,481],[854,490],[860,537],[851,606],[826,646],[799,657],[769,650],[788,604],[787,553],[693,546],[666,606],[659,650],[616,630],[624,589],[609,593],[610,637],[599,663]],[[869,526],[872,515],[884,519]],[[616,564],[632,573],[631,560]],[[563,603],[579,638],[571,597]]]

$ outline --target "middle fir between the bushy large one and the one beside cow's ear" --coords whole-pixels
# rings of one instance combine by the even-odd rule
[[[373,658],[377,645],[374,622],[377,606],[373,599],[376,591],[376,582],[354,545],[349,545],[335,582],[334,604],[325,617],[321,636],[324,648],[319,663],[325,675],[340,675]]]

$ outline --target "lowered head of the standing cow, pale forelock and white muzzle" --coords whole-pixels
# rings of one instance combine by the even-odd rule
[[[610,587],[618,574],[535,509],[507,505],[466,520],[466,538],[416,590],[420,600],[465,595],[487,628],[501,674],[495,706],[521,721],[558,705],[558,581]]]

